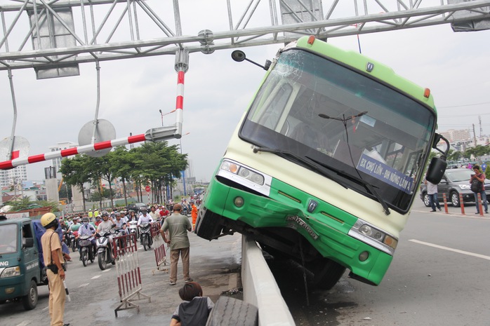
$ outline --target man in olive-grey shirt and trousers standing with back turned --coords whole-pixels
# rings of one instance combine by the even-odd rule
[[[177,264],[179,255],[182,257],[182,268],[185,283],[191,282],[189,276],[189,251],[190,242],[187,231],[191,231],[189,218],[181,215],[182,205],[173,205],[173,214],[167,217],[164,225],[161,226],[160,233],[165,243],[170,247],[170,285],[176,285],[177,282]],[[168,230],[168,239],[165,231]]]

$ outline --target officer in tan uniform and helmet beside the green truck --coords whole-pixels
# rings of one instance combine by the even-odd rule
[[[65,314],[66,292],[65,285],[65,264],[64,255],[61,252],[61,242],[55,230],[58,229],[58,219],[53,213],[46,213],[41,217],[41,225],[46,232],[41,237],[41,247],[43,249],[44,266],[46,266],[46,276],[49,285],[49,315],[51,326],[67,326],[63,322]]]

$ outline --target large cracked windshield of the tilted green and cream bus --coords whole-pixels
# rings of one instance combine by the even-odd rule
[[[267,76],[239,135],[310,170],[298,158],[330,168],[350,189],[406,212],[435,121],[435,111],[412,97],[292,48]]]

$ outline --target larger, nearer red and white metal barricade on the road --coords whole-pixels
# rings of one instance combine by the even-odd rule
[[[152,301],[152,298],[141,293],[140,262],[138,260],[138,239],[135,234],[114,236],[112,250],[116,259],[117,285],[119,287],[119,299],[121,304],[114,309],[117,311],[135,308],[138,313],[140,306],[135,304],[137,300]]]

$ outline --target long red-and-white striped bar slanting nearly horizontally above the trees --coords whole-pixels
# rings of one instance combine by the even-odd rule
[[[133,144],[135,142],[144,142],[147,140],[145,134],[129,136],[126,138],[119,138],[117,140],[107,140],[105,142],[97,142],[95,144],[88,144],[80,147],[73,147],[71,149],[62,149],[61,151],[51,151],[45,154],[24,156],[14,158],[13,160],[0,162],[0,170],[8,170],[15,168],[19,165],[26,165],[29,163],[37,163],[42,161],[52,160],[53,158],[67,157],[77,154],[88,153],[91,151],[99,151],[100,149],[108,149],[126,144]]]

